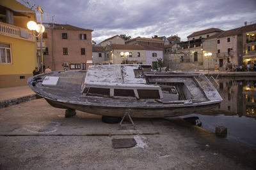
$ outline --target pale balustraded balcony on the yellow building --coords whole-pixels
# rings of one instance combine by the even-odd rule
[[[16,27],[14,25],[6,24],[0,22],[0,35],[10,36],[12,38],[25,39],[28,41],[36,41],[35,36],[33,36],[31,31],[21,27]]]

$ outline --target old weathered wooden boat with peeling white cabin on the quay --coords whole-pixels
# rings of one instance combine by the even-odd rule
[[[148,69],[149,70],[149,69]],[[150,72],[143,65],[95,65],[29,78],[51,106],[106,117],[164,118],[218,106],[222,98],[204,74]]]

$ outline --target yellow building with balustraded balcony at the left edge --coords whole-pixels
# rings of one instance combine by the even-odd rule
[[[36,66],[36,39],[28,30],[35,11],[15,0],[0,1],[0,88],[27,85]]]

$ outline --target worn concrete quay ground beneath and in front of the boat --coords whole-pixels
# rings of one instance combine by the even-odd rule
[[[256,151],[182,119],[135,119],[136,130],[35,99],[0,109],[0,169],[255,169]],[[134,138],[115,149],[111,139]]]

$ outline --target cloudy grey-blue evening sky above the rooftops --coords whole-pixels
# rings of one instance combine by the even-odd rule
[[[255,0],[18,0],[40,6],[43,22],[93,29],[100,43],[115,35],[151,38],[178,35],[182,41],[212,27],[228,30],[256,24]],[[29,6],[28,6],[29,7]],[[47,16],[46,16],[47,14]],[[36,11],[37,18],[40,13]]]

